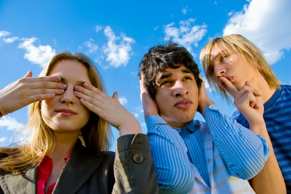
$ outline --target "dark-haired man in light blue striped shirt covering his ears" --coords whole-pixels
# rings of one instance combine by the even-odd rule
[[[175,43],[152,47],[140,63],[141,100],[161,192],[254,193],[247,179],[263,168],[269,147],[262,107],[232,91],[250,130],[221,113],[207,94],[192,55]],[[258,104],[260,102],[258,101]],[[205,122],[194,120],[199,111]],[[259,119],[258,119],[259,118]],[[257,134],[254,133],[256,131]]]

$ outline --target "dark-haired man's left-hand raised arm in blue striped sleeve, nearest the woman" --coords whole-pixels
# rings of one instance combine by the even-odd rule
[[[158,107],[146,92],[143,81],[141,100],[160,193],[189,193],[194,187],[195,177],[184,141],[178,132],[158,115]]]

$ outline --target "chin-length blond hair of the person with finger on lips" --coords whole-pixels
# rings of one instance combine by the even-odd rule
[[[222,37],[216,37],[210,40],[201,50],[200,62],[204,69],[206,79],[209,83],[212,91],[218,91],[222,96],[226,98],[228,103],[231,102],[231,95],[226,92],[222,87],[218,86],[212,75],[209,74],[208,67],[210,66],[211,52],[214,46],[217,46],[221,50],[228,50],[227,46],[230,46],[242,61],[251,64],[259,71],[259,73],[265,78],[271,88],[279,88],[281,82],[276,78],[272,68],[265,60],[261,51],[257,46],[251,43],[248,39],[240,34],[231,34]]]

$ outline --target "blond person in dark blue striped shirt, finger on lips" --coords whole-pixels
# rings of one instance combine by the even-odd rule
[[[291,86],[281,85],[259,48],[239,34],[210,40],[201,51],[200,61],[210,88],[228,102],[237,96],[250,97],[254,109],[244,110],[249,117],[236,111],[233,117],[238,123],[249,128],[258,120],[259,104],[264,108],[265,123],[261,127],[265,133],[260,135],[269,144],[270,156],[250,181],[255,192],[286,194],[287,187],[291,194]],[[253,89],[259,90],[260,95],[254,94]],[[236,106],[240,103],[234,100]]]

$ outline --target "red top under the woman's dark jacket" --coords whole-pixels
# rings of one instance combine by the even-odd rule
[[[72,150],[69,151],[68,155],[64,158],[65,163],[70,156]],[[49,175],[52,171],[52,159],[49,156],[45,156],[45,158],[41,161],[39,166],[37,166],[37,183],[36,183],[36,193],[37,194],[45,194],[45,186],[49,181]],[[49,185],[47,194],[51,194],[57,182]]]

